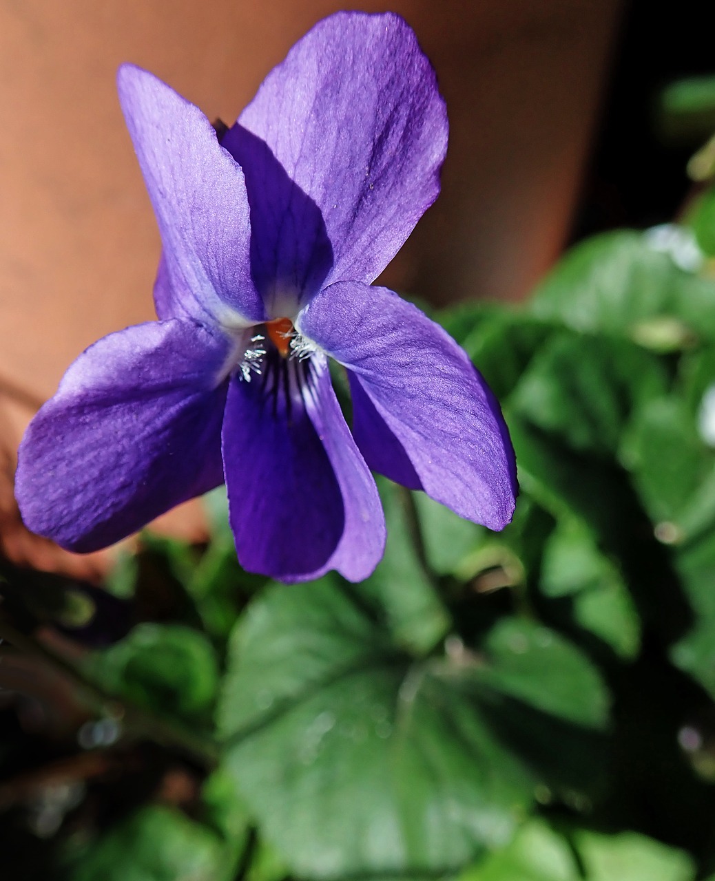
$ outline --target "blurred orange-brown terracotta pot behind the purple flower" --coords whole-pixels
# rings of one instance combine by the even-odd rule
[[[384,282],[436,302],[515,299],[562,246],[620,0],[394,0],[451,118],[443,194]],[[102,335],[153,317],[159,237],[115,96],[132,61],[233,121],[329,0],[22,0],[0,6],[0,406]],[[384,2],[363,3],[378,11]]]

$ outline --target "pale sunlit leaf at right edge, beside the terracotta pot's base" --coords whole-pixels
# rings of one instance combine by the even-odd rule
[[[604,233],[575,248],[534,293],[531,311],[588,333],[638,338],[653,319],[681,322],[682,344],[715,337],[715,282],[675,265],[641,233]]]

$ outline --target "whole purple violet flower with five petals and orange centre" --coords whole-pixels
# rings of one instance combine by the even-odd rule
[[[90,346],[34,418],[27,526],[93,551],[225,481],[247,569],[359,581],[384,551],[376,470],[502,529],[516,478],[498,404],[443,329],[370,286],[436,199],[447,146],[406,23],[324,19],[220,138],[145,70],[118,85],[163,242],[159,321]]]

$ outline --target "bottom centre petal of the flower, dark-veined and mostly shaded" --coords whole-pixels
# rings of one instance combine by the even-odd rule
[[[281,581],[330,569],[361,581],[373,571],[384,515],[323,357],[281,359],[260,380],[231,381],[223,458],[242,566]]]

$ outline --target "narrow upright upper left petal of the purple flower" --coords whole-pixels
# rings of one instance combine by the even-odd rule
[[[198,107],[151,73],[123,64],[117,87],[159,222],[175,300],[171,317],[263,321],[250,273],[241,168]]]

